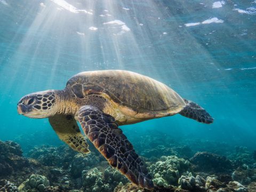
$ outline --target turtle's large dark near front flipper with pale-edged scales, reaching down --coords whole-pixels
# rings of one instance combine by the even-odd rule
[[[79,109],[78,121],[85,135],[111,166],[142,188],[154,187],[145,165],[112,116],[97,107],[83,106]]]

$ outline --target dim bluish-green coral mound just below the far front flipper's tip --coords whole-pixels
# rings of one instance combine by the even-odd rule
[[[89,170],[100,163],[100,158],[93,152],[90,154],[76,154],[71,162],[71,175],[74,178],[82,177],[82,171]]]

